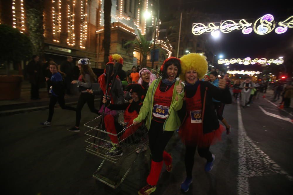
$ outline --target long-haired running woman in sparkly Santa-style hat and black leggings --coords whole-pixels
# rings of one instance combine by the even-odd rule
[[[89,94],[86,90],[91,89],[92,83],[96,82],[96,75],[93,73],[90,65],[91,62],[88,58],[81,58],[78,61],[78,68],[80,70],[80,76],[78,80],[73,80],[71,84],[77,84],[79,91],[81,92],[77,106],[76,106],[76,118],[75,118],[75,126],[67,129],[71,132],[79,132],[79,124],[81,120],[81,110],[84,107],[84,104],[88,104],[88,108],[90,111],[96,114],[99,114],[99,111],[95,108],[94,99],[95,96],[93,94]]]

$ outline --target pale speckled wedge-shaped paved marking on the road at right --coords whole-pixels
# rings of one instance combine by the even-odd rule
[[[248,179],[263,175],[282,174],[288,180],[293,181],[293,177],[283,170],[275,161],[265,154],[247,136],[241,115],[240,103],[237,101],[238,112],[238,175],[237,194],[249,195],[250,187]]]

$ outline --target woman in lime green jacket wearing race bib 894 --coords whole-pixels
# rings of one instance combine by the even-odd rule
[[[151,171],[147,177],[147,185],[138,191],[140,195],[156,190],[163,161],[167,171],[172,170],[172,157],[164,149],[174,130],[181,124],[177,111],[182,107],[184,90],[181,80],[176,80],[181,73],[180,59],[167,58],[161,66],[161,73],[162,77],[149,86],[139,115],[133,120],[136,125],[146,119],[152,153]]]

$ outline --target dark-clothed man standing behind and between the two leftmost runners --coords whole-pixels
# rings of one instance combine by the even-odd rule
[[[71,95],[70,86],[73,76],[73,65],[72,65],[73,58],[71,56],[67,56],[67,60],[61,64],[60,70],[62,73],[65,74],[65,83],[66,83],[66,93]]]

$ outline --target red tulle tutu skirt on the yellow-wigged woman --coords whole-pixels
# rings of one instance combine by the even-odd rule
[[[220,125],[218,129],[203,134],[202,124],[191,123],[190,117],[188,117],[180,127],[179,136],[186,145],[208,147],[221,141],[224,131],[226,131],[226,128]]]

